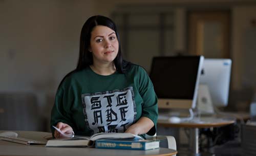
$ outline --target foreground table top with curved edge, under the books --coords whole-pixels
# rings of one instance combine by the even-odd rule
[[[48,132],[38,131],[16,131],[19,137],[45,141],[44,137],[49,136]],[[73,148],[73,147],[45,147],[44,145],[23,145],[0,140],[0,155],[88,155],[88,156],[131,156],[131,155],[174,155],[177,151],[168,148],[154,150],[116,150],[97,148]]]

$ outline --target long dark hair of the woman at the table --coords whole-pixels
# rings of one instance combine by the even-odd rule
[[[121,44],[120,44],[120,38],[119,33],[117,31],[116,24],[113,20],[111,20],[108,17],[96,15],[92,16],[87,19],[86,23],[82,26],[81,34],[80,34],[80,48],[79,48],[79,58],[77,62],[76,69],[68,73],[60,82],[59,86],[65,80],[66,77],[69,75],[83,70],[87,68],[89,65],[93,64],[93,55],[89,51],[90,45],[91,45],[91,32],[96,26],[106,26],[110,29],[114,30],[117,36],[117,40],[119,43],[119,49],[116,58],[114,59],[114,64],[116,67],[116,70],[118,73],[124,74],[127,70],[131,67],[131,62],[127,62],[123,60],[122,58],[122,52],[121,52]]]

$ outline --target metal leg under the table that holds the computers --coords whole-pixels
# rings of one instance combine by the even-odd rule
[[[190,128],[189,146],[193,155],[200,156],[199,153],[199,128]]]

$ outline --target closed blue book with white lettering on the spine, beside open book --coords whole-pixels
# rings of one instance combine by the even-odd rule
[[[159,140],[96,140],[96,148],[148,150],[159,148]]]

